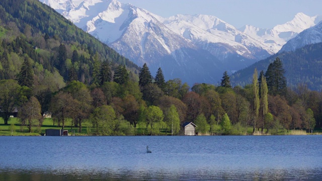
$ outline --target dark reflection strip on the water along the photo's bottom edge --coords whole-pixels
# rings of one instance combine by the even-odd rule
[[[321,180],[321,169],[0,170],[0,180]]]

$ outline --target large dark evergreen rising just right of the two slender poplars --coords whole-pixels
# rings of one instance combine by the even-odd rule
[[[285,95],[286,78],[282,61],[277,57],[274,62],[270,63],[265,73],[268,92],[271,95]]]

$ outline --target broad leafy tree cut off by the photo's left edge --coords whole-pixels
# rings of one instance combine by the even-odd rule
[[[16,80],[0,80],[0,106],[1,116],[8,125],[10,114],[27,98],[21,92],[21,86]]]

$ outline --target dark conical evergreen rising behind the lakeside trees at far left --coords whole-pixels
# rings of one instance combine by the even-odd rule
[[[31,88],[34,84],[34,71],[27,57],[25,57],[17,79],[21,86],[25,85]]]

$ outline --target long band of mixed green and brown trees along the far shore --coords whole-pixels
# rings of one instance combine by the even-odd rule
[[[197,83],[190,88],[180,79],[165,81],[161,68],[153,78],[144,64],[135,81],[124,65],[113,72],[105,62],[96,83],[71,80],[54,92],[28,87],[24,82],[32,79],[22,80],[26,76],[1,80],[0,103],[8,113],[5,124],[19,108],[22,124],[30,131],[41,125],[44,111],[52,113],[62,129],[68,125],[82,131],[83,123],[90,122],[88,133],[93,135],[133,135],[137,128],[148,135],[177,135],[185,122],[196,124],[199,134],[213,135],[245,134],[247,127],[271,134],[279,129],[320,128],[321,93],[305,84],[294,90],[286,87],[284,73],[282,61],[276,58],[266,72],[258,75],[255,69],[253,83],[245,87],[232,87],[224,72],[220,86]]]

